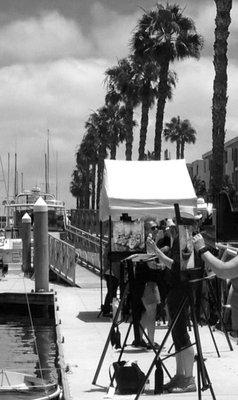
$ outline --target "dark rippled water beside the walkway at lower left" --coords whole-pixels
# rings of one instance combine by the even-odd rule
[[[0,369],[25,372],[58,382],[54,320],[0,311]],[[39,353],[39,357],[38,354]]]

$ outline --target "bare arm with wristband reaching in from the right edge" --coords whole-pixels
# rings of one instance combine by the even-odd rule
[[[203,261],[211,270],[222,279],[238,277],[238,256],[229,261],[222,261],[216,258],[206,247],[202,235],[199,233],[193,237],[195,250],[200,253]]]

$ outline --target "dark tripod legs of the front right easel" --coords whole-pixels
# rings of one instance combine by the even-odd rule
[[[201,279],[203,279],[203,278],[201,278]],[[184,309],[184,307],[186,306],[187,303],[189,304],[190,310],[191,310],[191,318],[192,318],[192,322],[193,322],[193,330],[194,330],[194,336],[195,336],[195,345],[196,345],[196,350],[197,350],[196,360],[197,360],[198,399],[201,400],[202,391],[209,389],[213,400],[216,400],[215,393],[212,388],[212,383],[210,381],[210,378],[209,378],[209,375],[208,375],[208,372],[207,372],[207,369],[205,366],[203,354],[202,354],[202,347],[201,347],[200,335],[199,335],[197,318],[196,318],[196,310],[195,310],[195,289],[196,289],[198,282],[201,281],[201,279],[195,279],[195,280],[190,280],[190,281],[186,282],[186,292],[184,294],[183,299],[181,300],[181,303],[178,307],[177,313],[174,316],[173,320],[171,321],[169,329],[168,329],[166,335],[164,336],[164,339],[161,342],[160,349],[158,351],[156,351],[155,357],[149,367],[148,372],[145,375],[145,379],[142,382],[134,400],[139,399],[140,394],[145,385],[145,382],[149,378],[153,368],[155,367],[157,361],[159,360],[162,348],[165,345],[170,333],[172,332],[173,328],[175,327],[175,324],[176,324],[182,310]]]

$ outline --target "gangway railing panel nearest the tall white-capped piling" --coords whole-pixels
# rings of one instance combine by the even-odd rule
[[[48,237],[51,270],[66,282],[73,286],[76,285],[76,252],[74,246],[52,236],[51,234],[49,234]]]

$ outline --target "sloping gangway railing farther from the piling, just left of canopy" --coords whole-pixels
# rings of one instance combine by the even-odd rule
[[[94,270],[94,272],[99,272],[100,254],[104,250],[106,240],[72,225],[67,226],[66,236],[67,241],[75,247],[78,263]]]

